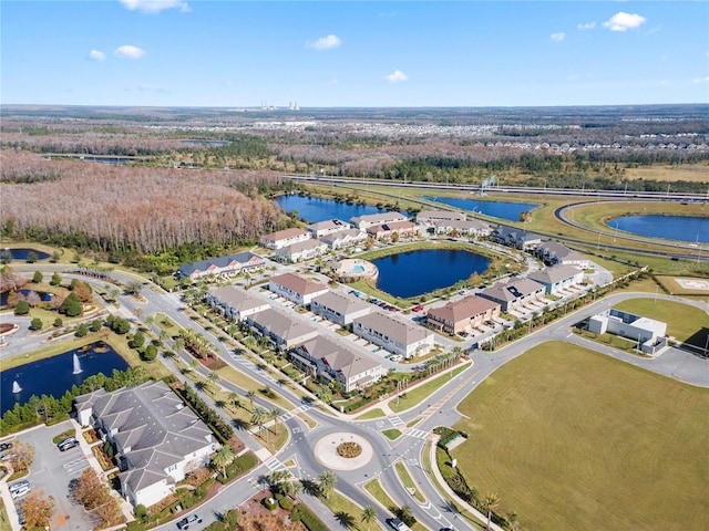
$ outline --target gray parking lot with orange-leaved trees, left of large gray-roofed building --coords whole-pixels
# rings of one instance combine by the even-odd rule
[[[89,531],[93,528],[92,522],[84,514],[81,506],[73,504],[68,498],[69,481],[81,476],[91,465],[84,451],[86,445],[82,444],[66,451],[60,451],[52,439],[75,427],[70,420],[51,427],[38,427],[35,429],[20,434],[12,439],[27,442],[34,448],[34,462],[30,467],[30,473],[22,479],[30,481],[31,491],[43,491],[45,496],[54,498],[55,509],[51,528],[54,530]],[[13,481],[14,482],[14,481]],[[2,481],[0,490],[10,523],[13,530],[20,529],[17,517],[17,506],[22,498],[12,500],[8,489],[7,480]],[[17,506],[16,506],[17,502]]]

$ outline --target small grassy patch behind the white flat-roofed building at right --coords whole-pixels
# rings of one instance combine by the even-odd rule
[[[679,341],[702,347],[707,342],[709,314],[688,304],[661,299],[629,299],[614,308],[667,323],[667,335]]]

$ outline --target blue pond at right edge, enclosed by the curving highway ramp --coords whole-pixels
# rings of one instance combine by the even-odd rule
[[[692,216],[623,216],[607,227],[624,232],[665,240],[709,243],[709,218]]]

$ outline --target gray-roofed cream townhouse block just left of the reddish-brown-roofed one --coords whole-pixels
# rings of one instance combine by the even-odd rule
[[[433,332],[381,312],[352,321],[352,332],[392,354],[413,357],[433,348]]]

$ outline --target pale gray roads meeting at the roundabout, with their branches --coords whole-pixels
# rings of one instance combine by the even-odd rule
[[[37,269],[37,267],[34,266],[30,269],[33,270]],[[124,281],[132,280],[130,278],[123,278],[121,273],[116,273],[115,277]],[[93,284],[103,285],[105,283],[80,275],[76,278]],[[709,386],[708,360],[692,356],[684,351],[674,348],[668,350],[655,360],[640,358],[616,351],[607,345],[590,342],[572,332],[574,323],[592,314],[599,313],[626,299],[649,296],[656,300],[678,300],[677,298],[661,294],[617,293],[588,304],[577,312],[568,314],[548,326],[492,353],[475,351],[472,354],[473,363],[471,366],[458,376],[452,377],[450,383],[432,394],[425,400],[425,404],[420,404],[398,415],[388,410],[386,405],[376,405],[374,407],[384,407],[388,415],[371,420],[353,420],[352,418],[337,414],[330,408],[326,410],[325,406],[312,407],[309,404],[304,404],[300,396],[295,394],[288,386],[279,386],[273,376],[259,369],[256,364],[235,355],[234,352],[229,351],[220,341],[202,327],[198,322],[185,314],[183,311],[184,303],[178,295],[166,293],[154,285],[146,287],[142,294],[145,298],[144,303],[140,303],[131,296],[121,296],[119,300],[120,309],[111,309],[111,311],[117,311],[132,319],[134,319],[133,312],[136,308],[143,310],[142,319],[153,315],[156,312],[166,314],[179,326],[193,329],[212,341],[218,348],[218,354],[227,364],[259,382],[259,384],[270,386],[294,405],[290,412],[285,412],[280,417],[282,424],[288,427],[290,439],[276,455],[269,455],[258,442],[258,439],[250,433],[239,431],[237,434],[244,440],[245,445],[261,458],[261,464],[256,470],[253,470],[246,477],[223,489],[216,497],[209,499],[198,509],[205,519],[203,523],[205,527],[218,518],[225,510],[245,503],[253,494],[263,488],[263,477],[273,470],[284,468],[284,464],[291,459],[296,466],[290,468],[290,471],[296,477],[299,479],[317,478],[325,470],[325,466],[318,460],[318,456],[314,454],[312,449],[321,438],[333,433],[345,431],[364,437],[371,444],[373,455],[371,460],[360,468],[336,471],[338,476],[337,488],[342,494],[359,506],[371,504],[376,507],[379,513],[379,520],[383,522],[386,518],[389,518],[387,508],[380,507],[362,488],[367,481],[377,478],[395,503],[399,506],[409,504],[415,518],[428,529],[436,530],[446,525],[455,527],[455,529],[459,530],[474,529],[466,523],[462,517],[459,517],[459,514],[451,510],[445,499],[432,485],[429,473],[423,469],[422,451],[428,440],[428,434],[435,426],[452,426],[455,424],[461,418],[456,407],[472,389],[500,366],[527,350],[547,341],[572,342],[648,371],[681,379],[691,385]],[[706,310],[706,303],[703,302],[684,300],[682,302]],[[27,350],[31,350],[33,342],[39,344],[39,339],[29,335],[19,336],[17,340],[11,339],[10,344],[6,348],[0,350],[0,352],[2,352],[3,357],[10,352],[17,352],[17,350],[27,352]],[[187,354],[183,353],[182,355],[185,361],[188,361]],[[164,360],[164,363],[171,367],[177,377],[184,378],[173,362]],[[201,369],[201,372],[203,375],[206,375],[206,369]],[[239,391],[228,382],[220,382],[220,385],[228,391]],[[208,402],[207,395],[203,395],[203,397]],[[261,398],[257,397],[256,399],[268,409],[273,407],[271,404],[264,402]],[[215,409],[225,415],[219,408],[215,407]],[[295,415],[297,413],[306,413],[317,421],[317,427],[312,429],[309,428]],[[420,420],[415,426],[407,427],[408,424],[413,423],[417,418],[420,418]],[[404,434],[394,441],[390,441],[381,433],[383,429],[392,427],[404,431]],[[399,459],[402,459],[407,464],[413,481],[427,499],[425,503],[418,503],[401,485],[393,468],[393,464]],[[340,525],[317,498],[304,493],[301,494],[301,499],[319,514],[328,527],[336,529]],[[172,524],[166,524],[165,528],[172,529]]]

